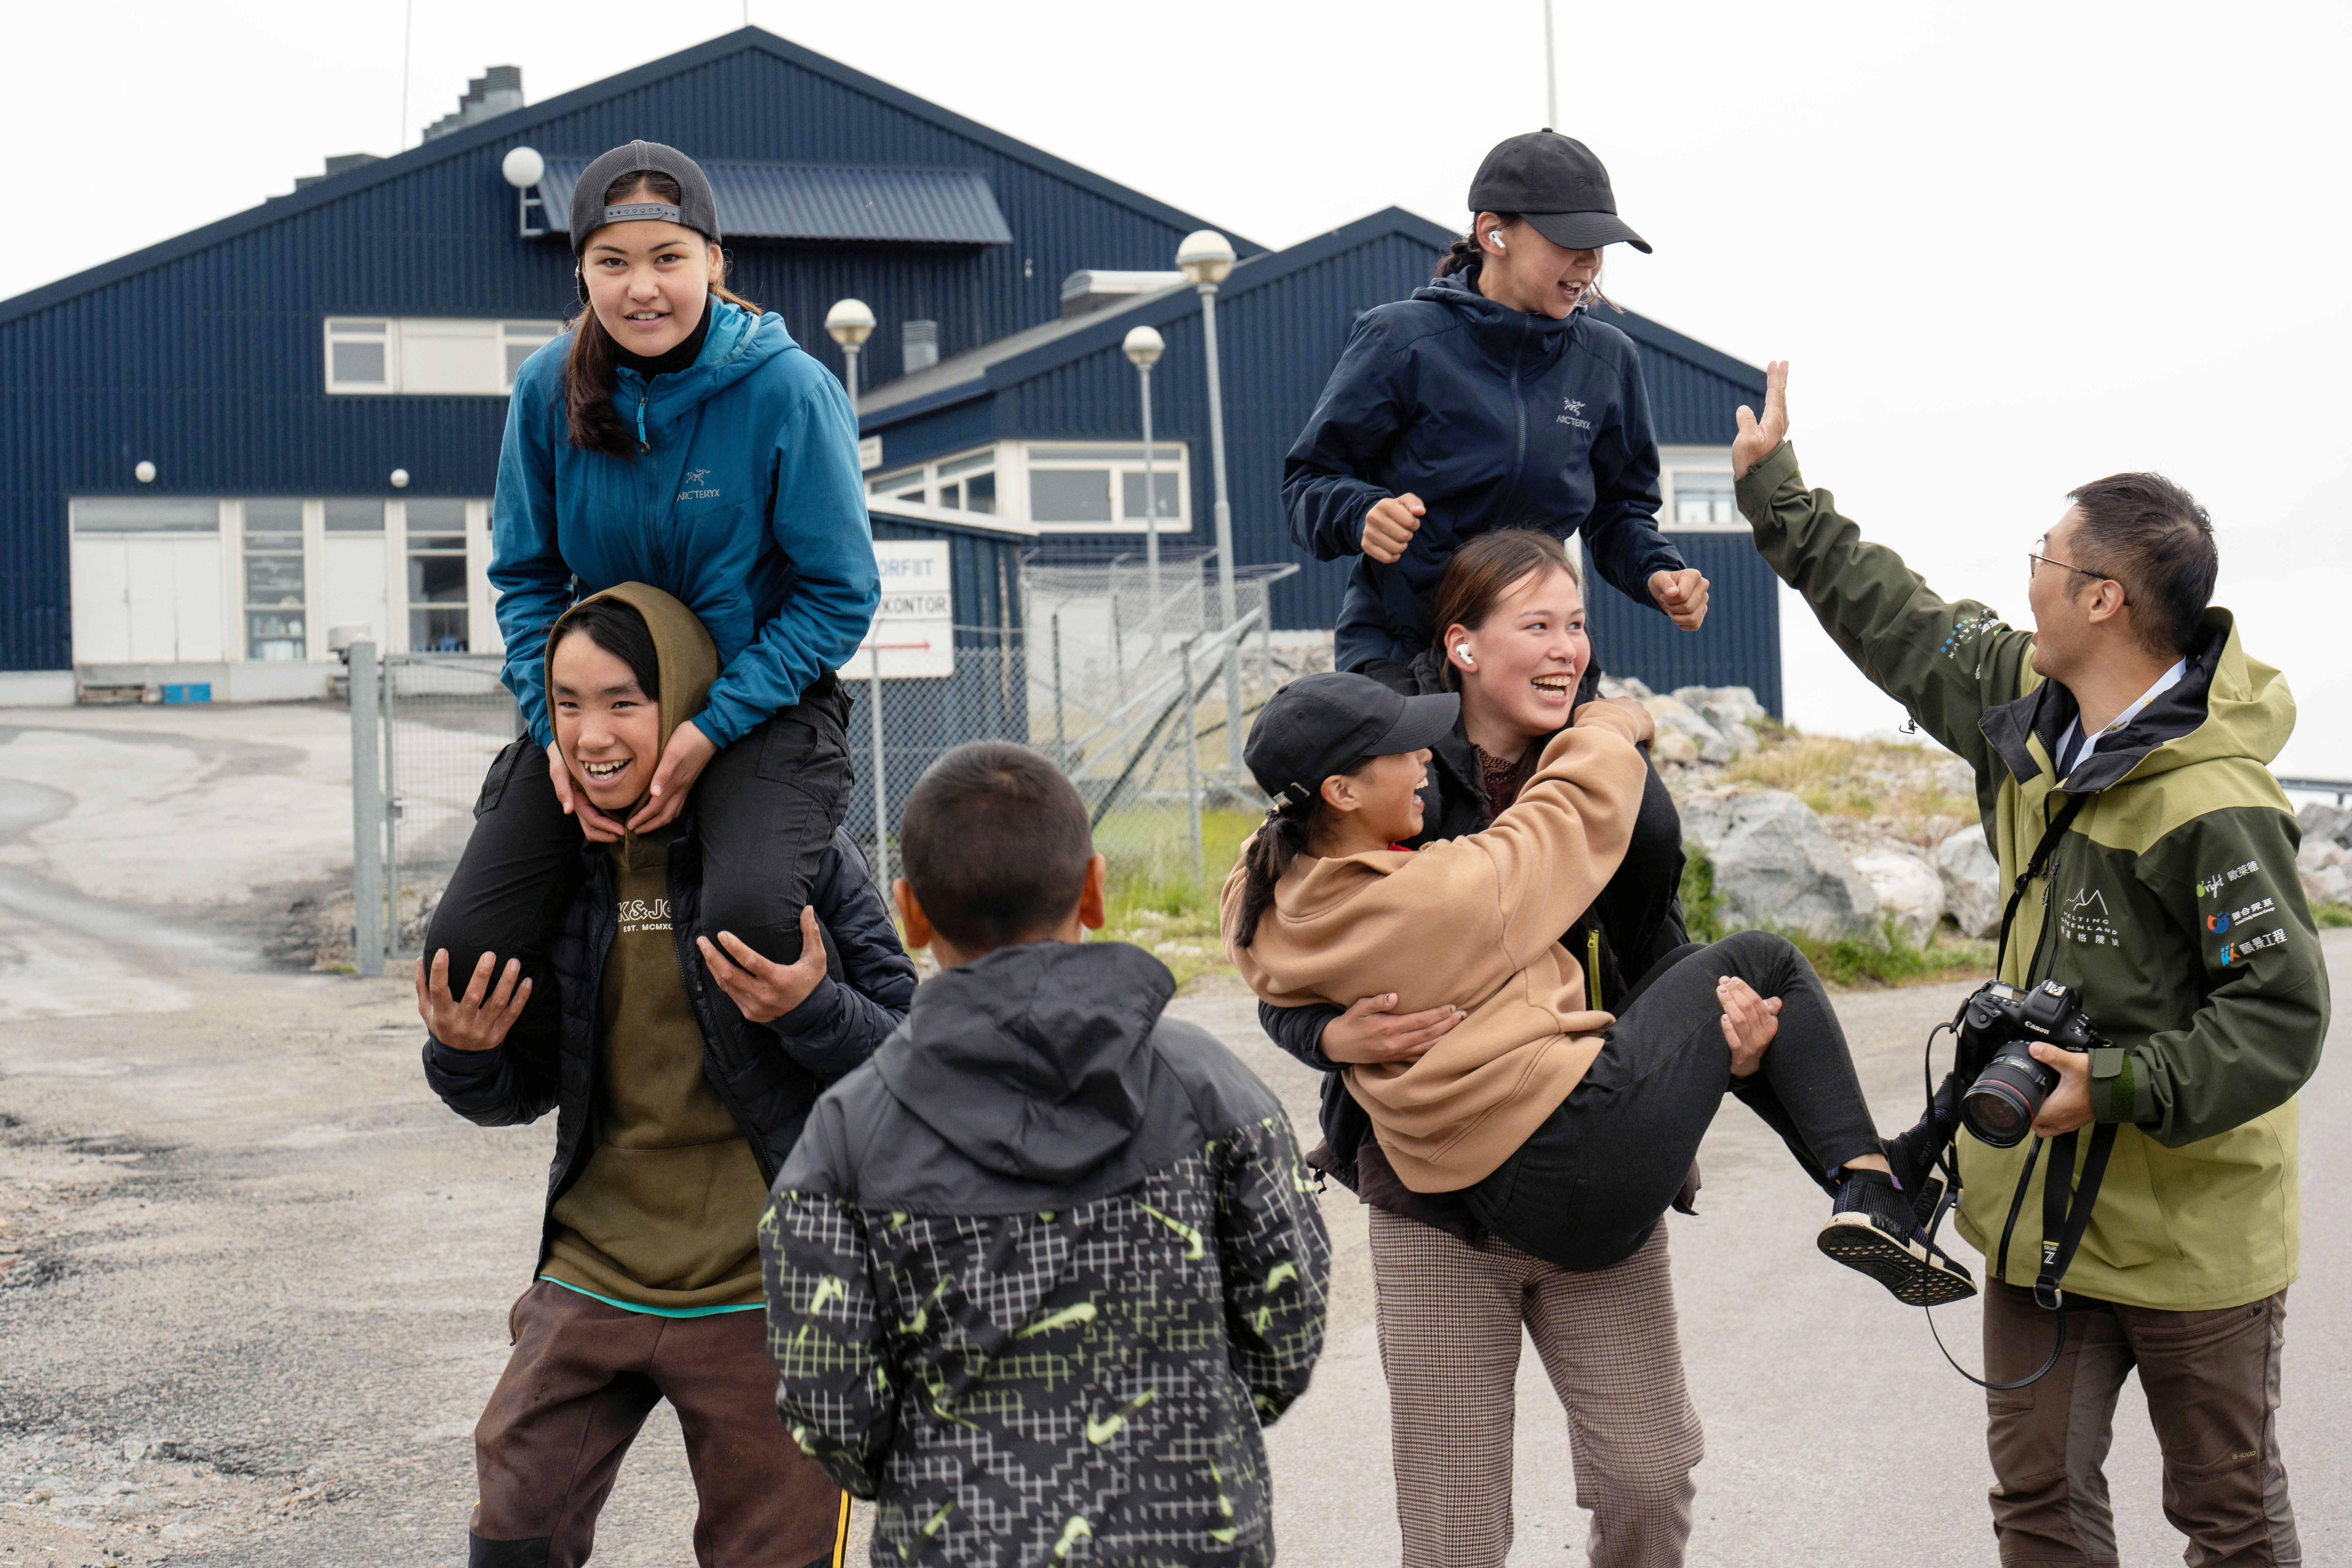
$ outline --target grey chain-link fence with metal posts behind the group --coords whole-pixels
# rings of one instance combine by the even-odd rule
[[[946,675],[894,675],[882,623],[880,679],[849,689],[856,788],[847,827],[875,872],[887,879],[894,867],[915,780],[967,741],[1016,741],[1051,757],[1087,802],[1115,877],[1218,870],[1207,865],[1216,823],[1204,818],[1265,809],[1242,769],[1240,736],[1275,689],[1329,668],[1327,646],[1301,649],[1268,632],[1268,590],[1291,571],[1237,571],[1228,628],[1207,552],[1171,548],[1157,574],[1141,552],[1025,562],[1025,625],[955,628]],[[386,959],[423,945],[473,830],[482,776],[517,733],[499,668],[480,654],[350,649],[360,973],[381,973]]]

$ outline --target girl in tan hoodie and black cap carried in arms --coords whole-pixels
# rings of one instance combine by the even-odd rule
[[[1465,1018],[1418,1060],[1348,1067],[1381,1152],[1414,1192],[1461,1192],[1489,1232],[1545,1262],[1604,1269],[1665,1213],[1736,1077],[1762,1072],[1837,1192],[1820,1248],[1900,1300],[1973,1295],[1919,1237],[1889,1175],[1818,976],[1740,931],[1646,978],[1623,1018],[1592,1011],[1559,933],[1625,853],[1651,738],[1637,703],[1590,703],[1484,830],[1418,851],[1425,736],[1458,698],[1362,675],[1282,689],[1247,762],[1275,799],[1223,893],[1225,947],[1275,1006],[1395,992]]]

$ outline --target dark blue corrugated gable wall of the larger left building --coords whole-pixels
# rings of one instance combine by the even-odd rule
[[[804,68],[776,40],[682,59],[696,56],[369,165],[341,176],[343,190],[329,181],[287,200],[278,219],[266,207],[221,242],[0,320],[0,670],[71,663],[66,496],[369,496],[390,494],[393,468],[409,470],[409,494],[489,491],[506,402],[329,397],[320,322],[569,315],[564,242],[515,233],[515,193],[499,176],[510,146],[597,153],[644,136],[710,158],[988,174],[1009,247],[741,247],[743,292],[835,369],[823,310],[842,294],[875,308],[868,386],[898,371],[906,320],[936,320],[941,353],[957,353],[1056,317],[1065,273],[1169,266],[1192,226],[1056,174],[1042,155],[1023,162],[1002,139],[924,120],[854,73]],[[132,477],[141,458],[158,468],[153,487]]]

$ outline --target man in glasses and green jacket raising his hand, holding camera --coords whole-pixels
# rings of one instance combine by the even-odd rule
[[[1806,489],[1785,437],[1788,367],[1773,364],[1764,418],[1740,409],[1731,449],[1757,550],[1856,668],[1976,771],[2004,882],[2072,809],[2016,903],[2002,980],[2077,987],[2112,1044],[2034,1046],[2058,1072],[2037,1138],[1997,1150],[1962,1131],[1957,1145],[1959,1232],[1997,1274],[1985,1375],[2016,1382],[2049,1359],[2058,1326],[2034,1295],[2051,1262],[2044,1178],[2077,1154],[2079,1192],[2112,1138],[2063,1279],[2065,1352],[1987,1396],[2002,1563],[2117,1561],[2100,1465],[2133,1368],[2190,1561],[2300,1563],[2274,1410],[2298,1251],[2296,1091],[2319,1065],[2328,980],[2296,818],[2267,766],[2296,724],[2286,679],[2209,607],[2213,529],[2159,475],[2070,496],[2030,550],[2023,632],[1938,599],[1865,543],[1830,491]],[[2072,1227],[2051,1229],[2058,1244]]]

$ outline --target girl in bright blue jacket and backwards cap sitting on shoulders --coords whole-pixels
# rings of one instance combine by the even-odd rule
[[[833,670],[880,599],[856,414],[781,317],[727,292],[717,200],[684,153],[630,141],[588,165],[572,252],[586,308],[515,376],[492,505],[527,733],[482,783],[426,952],[447,950],[454,973],[482,952],[536,959],[581,837],[659,832],[699,785],[706,924],[790,964],[849,799]],[[555,752],[546,637],[576,597],[630,581],[710,628],[720,677],[637,804],[607,816]]]

